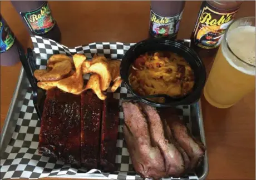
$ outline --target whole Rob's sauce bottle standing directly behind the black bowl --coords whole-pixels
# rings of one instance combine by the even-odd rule
[[[151,1],[149,38],[176,39],[185,1]]]

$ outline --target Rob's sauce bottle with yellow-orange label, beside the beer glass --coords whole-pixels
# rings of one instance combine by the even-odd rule
[[[191,34],[191,47],[200,57],[214,56],[225,30],[243,1],[203,1]]]

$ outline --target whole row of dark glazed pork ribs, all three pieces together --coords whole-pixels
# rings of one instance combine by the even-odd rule
[[[50,89],[38,150],[45,156],[87,169],[115,171],[118,124],[119,100],[113,94],[101,101],[91,91],[77,96]]]

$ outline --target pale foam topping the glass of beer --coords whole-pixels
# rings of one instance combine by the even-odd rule
[[[232,49],[237,57],[255,66],[255,27],[242,26],[234,28],[228,33],[227,40],[230,49]],[[248,64],[242,63],[239,59],[235,58],[225,45],[221,49],[231,66],[243,73],[255,75],[255,67],[248,66]]]

